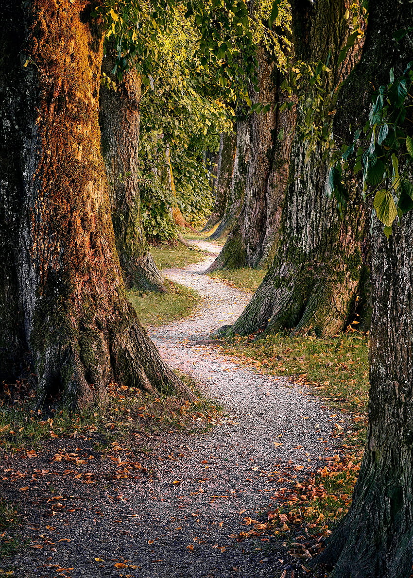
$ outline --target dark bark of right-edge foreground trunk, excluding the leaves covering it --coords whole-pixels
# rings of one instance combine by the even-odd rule
[[[371,4],[362,61],[340,97],[335,130],[363,126],[371,92],[411,60],[413,4]],[[374,88],[372,88],[374,87]],[[411,131],[411,127],[409,128]],[[410,173],[413,181],[413,173]],[[413,214],[386,239],[377,217],[371,236],[373,318],[370,338],[369,427],[353,502],[316,562],[335,564],[337,578],[408,578],[413,555]]]

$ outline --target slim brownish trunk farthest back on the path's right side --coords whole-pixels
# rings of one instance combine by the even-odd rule
[[[211,231],[222,220],[230,198],[233,180],[237,135],[235,132],[222,132],[219,141],[218,168],[215,181],[215,204],[202,231]]]

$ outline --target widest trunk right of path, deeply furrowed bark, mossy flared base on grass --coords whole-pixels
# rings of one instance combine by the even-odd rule
[[[302,2],[293,2],[292,8],[297,57],[325,62],[331,51],[329,92],[348,76],[359,53],[359,46],[354,46],[337,64],[349,34],[345,3],[318,2],[316,8],[308,5],[310,13],[303,11]],[[311,39],[311,45],[305,39]],[[298,125],[305,123],[304,106],[297,106]],[[276,239],[274,260],[231,333],[287,328],[334,335],[345,326],[360,291],[367,251],[359,187],[353,184],[351,202],[341,216],[337,202],[325,194],[328,162],[322,160],[320,150],[309,149],[298,130],[290,159],[289,179],[285,161],[281,161],[282,171],[277,168],[272,175],[279,199],[272,212],[281,216],[279,227],[273,218],[268,229],[268,237]]]

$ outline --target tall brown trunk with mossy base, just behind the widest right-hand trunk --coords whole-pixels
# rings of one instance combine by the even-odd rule
[[[257,79],[248,79],[249,139],[250,150],[248,164],[242,184],[242,202],[235,195],[234,209],[231,209],[231,193],[228,187],[227,213],[238,212],[239,217],[233,223],[226,244],[220,255],[209,268],[231,269],[242,266],[259,267],[267,264],[271,251],[272,229],[279,222],[277,216],[279,199],[276,186],[272,190],[271,179],[275,167],[282,172],[282,164],[289,163],[289,154],[283,154],[281,160],[279,139],[282,136],[285,150],[291,146],[294,131],[294,110],[280,110],[278,103],[283,99],[281,90],[282,75],[279,70],[285,65],[285,53],[290,50],[289,23],[290,8],[286,2],[276,2],[278,14],[272,25],[274,31],[268,28],[271,3],[250,3],[250,18],[255,28],[257,42]],[[279,33],[282,33],[279,34]],[[286,123],[287,121],[287,123]],[[239,136],[245,136],[245,125],[239,124]],[[285,135],[285,138],[284,138]],[[239,158],[245,157],[245,140],[239,139],[237,153]],[[243,180],[244,180],[243,179]],[[241,210],[237,206],[241,204]],[[219,232],[213,236],[215,238]]]

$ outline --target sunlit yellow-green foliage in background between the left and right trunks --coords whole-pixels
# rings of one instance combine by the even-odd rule
[[[178,235],[171,218],[173,206],[195,227],[207,219],[213,194],[205,151],[217,151],[219,133],[233,124],[232,110],[200,84],[197,61],[191,60],[198,42],[196,29],[183,17],[182,8],[175,10],[171,21],[175,34],[164,36],[153,71],[156,83],[141,102],[143,226],[156,242]],[[209,82],[204,73],[201,77]]]

